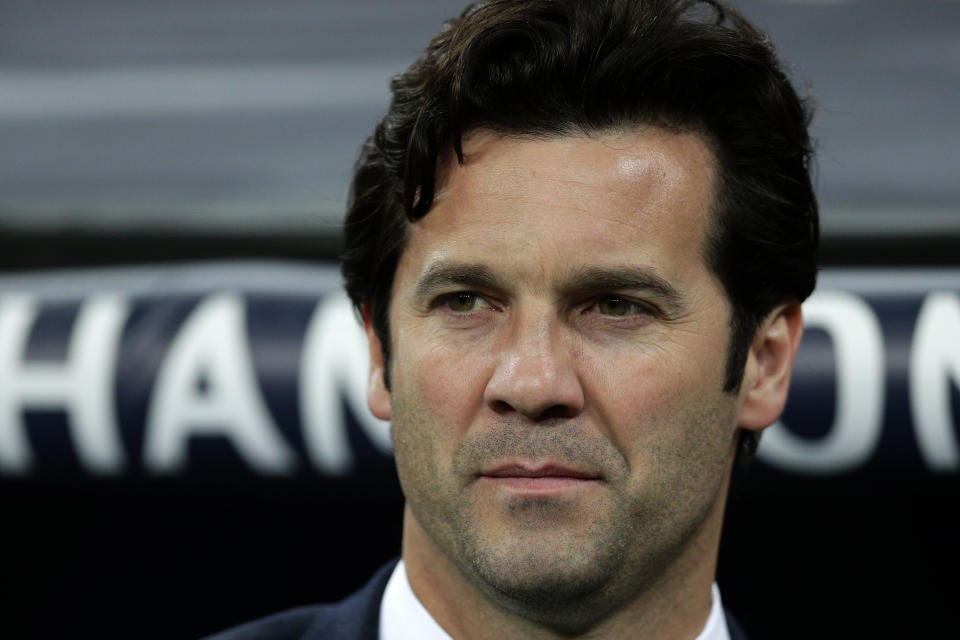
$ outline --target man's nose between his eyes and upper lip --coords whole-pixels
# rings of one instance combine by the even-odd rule
[[[548,312],[517,318],[511,329],[484,390],[487,406],[534,421],[579,414],[584,392],[576,355],[558,320]]]

